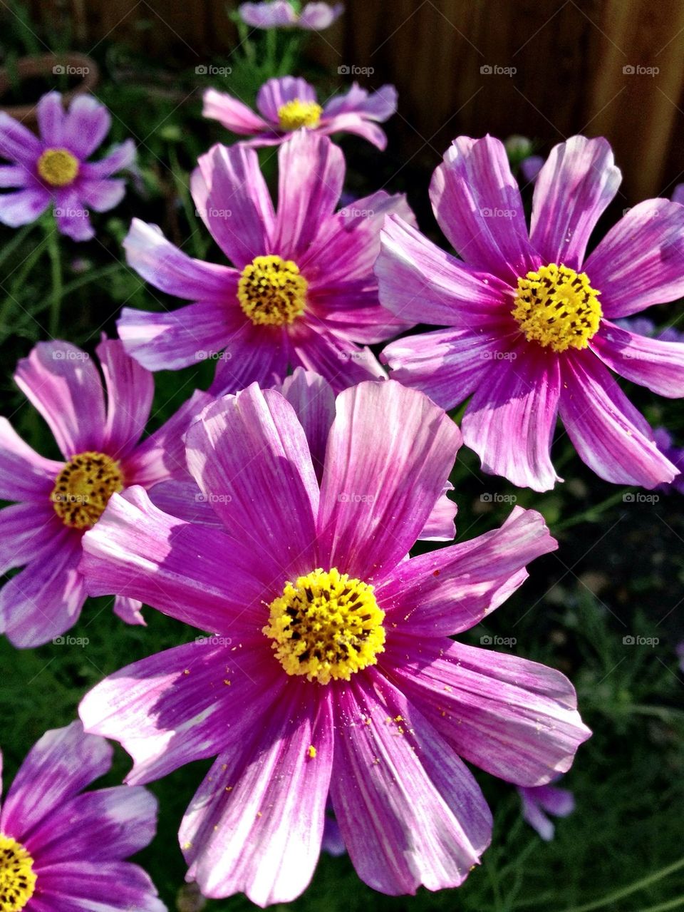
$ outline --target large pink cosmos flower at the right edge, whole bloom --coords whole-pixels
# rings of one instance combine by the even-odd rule
[[[536,178],[528,235],[502,144],[461,137],[430,192],[462,259],[395,216],[385,223],[375,267],[383,305],[447,326],[386,347],[392,376],[445,409],[472,395],[465,443],[485,472],[536,491],[559,480],[549,452],[557,415],[609,482],[652,488],[677,473],[610,371],[684,395],[684,346],[614,322],[684,295],[684,206],[639,203],[585,259],[619,181],[606,140],[561,143]]]

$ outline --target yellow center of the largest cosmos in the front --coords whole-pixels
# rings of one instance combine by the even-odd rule
[[[384,611],[373,586],[334,567],[287,583],[270,607],[270,623],[262,632],[273,640],[276,658],[289,675],[306,675],[319,684],[348,681],[384,651]]]

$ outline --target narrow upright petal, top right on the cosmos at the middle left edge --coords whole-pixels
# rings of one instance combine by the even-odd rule
[[[107,389],[107,422],[103,446],[120,459],[145,430],[154,397],[154,378],[129,358],[118,339],[104,339],[97,346]]]

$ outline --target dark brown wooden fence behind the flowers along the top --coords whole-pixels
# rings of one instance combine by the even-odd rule
[[[434,163],[462,132],[522,133],[545,149],[586,132],[613,143],[626,204],[684,181],[684,0],[346,6],[312,53],[333,71],[372,68],[363,84],[399,88],[403,155]],[[116,37],[189,63],[225,59],[235,40],[226,8],[225,0],[32,0],[36,20],[68,22],[78,49]]]

